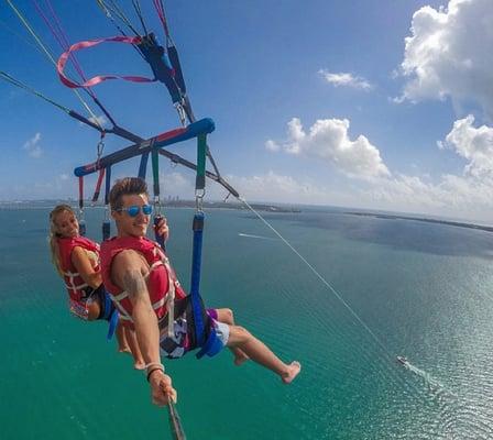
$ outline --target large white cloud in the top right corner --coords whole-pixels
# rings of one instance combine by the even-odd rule
[[[409,80],[397,100],[450,97],[493,117],[492,23],[491,0],[450,0],[448,8],[416,11],[401,65]]]

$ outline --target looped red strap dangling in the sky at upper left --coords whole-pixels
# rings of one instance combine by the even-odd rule
[[[108,38],[98,38],[98,40],[89,40],[84,41],[79,43],[73,44],[68,51],[64,52],[59,58],[58,63],[56,64],[56,69],[58,70],[58,76],[61,81],[69,87],[70,89],[76,89],[80,87],[92,87],[97,84],[100,84],[102,81],[106,81],[108,79],[124,79],[125,81],[132,81],[132,82],[154,82],[155,79],[145,78],[142,76],[118,76],[118,75],[98,75],[94,78],[88,79],[87,81],[83,84],[78,84],[75,81],[72,81],[68,79],[64,74],[65,64],[67,63],[68,57],[70,56],[72,52],[79,51],[83,48],[88,48],[96,46],[98,44],[105,43],[105,42],[113,42],[113,43],[127,43],[127,44],[140,44],[142,42],[142,38],[140,36],[110,36]]]

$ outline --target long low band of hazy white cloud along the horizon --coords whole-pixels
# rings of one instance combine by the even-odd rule
[[[493,179],[442,175],[438,182],[395,174],[371,180],[358,180],[336,190],[307,177],[286,176],[270,170],[253,176],[226,176],[250,201],[331,205],[427,213],[439,217],[491,221],[493,219]],[[357,182],[357,180],[354,180]],[[223,198],[226,191],[211,185],[208,197]]]

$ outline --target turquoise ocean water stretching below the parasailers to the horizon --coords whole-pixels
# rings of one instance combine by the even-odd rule
[[[166,410],[106,327],[68,315],[47,213],[0,210],[0,438],[171,438]],[[167,211],[185,286],[191,216]],[[493,438],[492,233],[340,211],[265,216],[366,328],[258,219],[209,211],[206,304],[232,308],[303,371],[283,386],[228,352],[166,362],[188,439]],[[89,237],[101,218],[87,212]]]

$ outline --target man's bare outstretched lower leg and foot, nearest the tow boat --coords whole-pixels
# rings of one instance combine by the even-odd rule
[[[227,345],[241,349],[252,361],[278,374],[285,384],[292,383],[302,370],[299,362],[285,364],[267,345],[239,326],[230,327]]]

